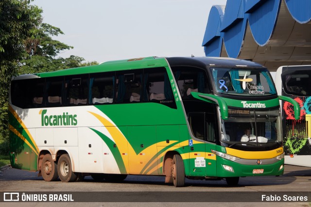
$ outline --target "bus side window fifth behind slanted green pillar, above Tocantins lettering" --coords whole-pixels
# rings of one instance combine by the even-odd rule
[[[62,106],[63,104],[64,78],[47,78],[45,83],[45,103],[48,107]]]

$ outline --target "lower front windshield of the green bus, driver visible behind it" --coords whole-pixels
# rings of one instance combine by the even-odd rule
[[[282,141],[278,108],[266,110],[229,109],[228,120],[222,120],[221,141],[228,144],[276,143]]]

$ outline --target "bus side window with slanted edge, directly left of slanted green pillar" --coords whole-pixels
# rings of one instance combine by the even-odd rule
[[[143,101],[176,108],[172,86],[164,67],[144,70]]]

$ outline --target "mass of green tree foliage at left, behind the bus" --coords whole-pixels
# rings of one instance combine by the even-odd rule
[[[98,64],[82,63],[84,58],[55,58],[73,48],[53,36],[64,34],[59,28],[42,23],[42,10],[33,0],[0,0],[0,154],[9,153],[8,88],[18,74],[49,72]]]

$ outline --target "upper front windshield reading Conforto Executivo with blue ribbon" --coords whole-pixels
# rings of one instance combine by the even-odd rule
[[[276,94],[271,75],[264,68],[211,67],[210,73],[217,94],[237,96],[269,96]]]

